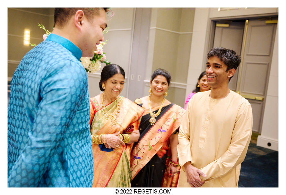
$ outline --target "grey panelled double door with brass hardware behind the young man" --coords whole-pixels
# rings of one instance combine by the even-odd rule
[[[229,88],[250,102],[253,131],[258,133],[261,132],[276,25],[275,21],[263,18],[216,21],[214,32],[213,47],[225,47],[241,55],[241,64]]]

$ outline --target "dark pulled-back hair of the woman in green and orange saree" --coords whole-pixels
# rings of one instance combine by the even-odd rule
[[[99,89],[101,91],[104,91],[104,89],[102,88],[102,83],[116,74],[121,74],[123,75],[123,78],[125,78],[125,72],[123,68],[121,68],[117,64],[108,64],[104,66],[100,74]]]

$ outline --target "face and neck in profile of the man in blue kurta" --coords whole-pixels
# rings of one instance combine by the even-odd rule
[[[85,20],[82,32],[82,41],[80,48],[82,57],[93,57],[96,45],[100,41],[104,41],[103,30],[106,28],[106,14],[103,8],[98,11],[99,14],[92,17],[90,20]]]

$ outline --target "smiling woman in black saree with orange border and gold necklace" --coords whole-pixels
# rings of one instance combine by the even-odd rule
[[[185,110],[164,98],[170,80],[168,71],[155,70],[151,76],[150,95],[135,100],[145,111],[139,126],[139,140],[131,152],[132,187],[177,186],[178,132]]]

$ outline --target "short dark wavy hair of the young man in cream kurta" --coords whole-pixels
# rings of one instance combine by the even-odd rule
[[[241,57],[237,55],[234,50],[225,49],[223,47],[215,47],[211,49],[207,54],[207,59],[212,56],[218,57],[220,61],[222,61],[227,66],[226,72],[230,69],[236,70],[241,62]],[[229,78],[229,81],[231,78]]]

